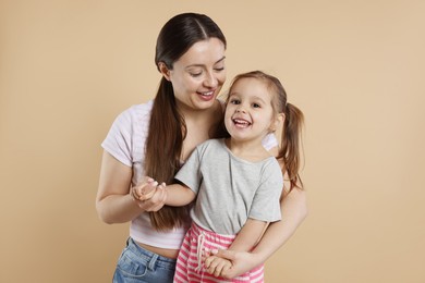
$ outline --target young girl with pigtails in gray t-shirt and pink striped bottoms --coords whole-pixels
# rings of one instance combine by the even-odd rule
[[[286,107],[287,96],[276,77],[255,71],[234,78],[223,121],[230,137],[197,146],[175,175],[180,184],[167,186],[166,204],[170,206],[187,205],[197,196],[191,210],[192,226],[179,253],[174,282],[224,281],[219,275],[231,262],[216,257],[206,269],[203,253],[217,248],[250,251],[267,224],[281,219],[282,172],[262,140],[286,119]],[[292,121],[298,127],[292,132],[283,130],[287,137],[295,134],[292,143],[298,142],[299,119],[302,120],[301,111],[293,108],[299,113]],[[298,150],[291,156],[291,161],[298,163]],[[295,170],[291,172],[293,181],[299,179]],[[263,281],[260,264],[233,282]]]

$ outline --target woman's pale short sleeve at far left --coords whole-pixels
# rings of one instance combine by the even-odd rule
[[[117,116],[101,147],[123,164],[132,165],[132,121],[129,111]]]

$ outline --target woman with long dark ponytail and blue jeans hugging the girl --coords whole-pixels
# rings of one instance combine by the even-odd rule
[[[155,100],[122,112],[102,143],[97,211],[106,223],[132,222],[114,282],[172,282],[189,227],[187,209],[162,208],[163,189],[145,201],[132,192],[141,183],[157,186],[144,176],[171,183],[198,144],[219,136],[223,109],[217,96],[226,82],[224,51],[226,38],[208,16],[184,13],[169,20],[157,39],[155,62],[162,78]],[[269,149],[276,139],[264,145]],[[283,218],[288,223],[270,226],[256,255],[230,255],[234,266],[226,275],[262,263],[289,238],[305,217],[304,193],[283,198],[281,207],[290,216]]]

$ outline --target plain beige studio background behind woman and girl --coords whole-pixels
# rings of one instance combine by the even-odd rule
[[[0,282],[110,282],[127,225],[96,214],[100,143],[184,11],[223,29],[229,78],[275,74],[306,115],[309,216],[267,281],[425,282],[422,0],[0,1]]]

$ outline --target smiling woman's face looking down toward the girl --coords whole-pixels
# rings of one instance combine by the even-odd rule
[[[172,83],[179,107],[210,108],[226,82],[224,45],[218,38],[194,44],[172,70],[162,74]]]

